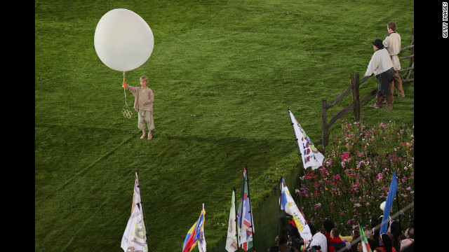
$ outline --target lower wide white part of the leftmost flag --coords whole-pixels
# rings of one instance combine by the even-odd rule
[[[123,251],[148,251],[147,237],[140,207],[135,207],[121,238]]]

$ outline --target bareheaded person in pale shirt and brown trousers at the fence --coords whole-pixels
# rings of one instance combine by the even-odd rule
[[[390,85],[391,94],[394,94],[394,87],[396,87],[398,96],[406,97],[406,94],[402,88],[401,75],[399,74],[401,63],[399,62],[398,54],[401,52],[401,36],[396,32],[396,28],[395,22],[388,23],[387,30],[390,35],[385,38],[382,44],[384,45],[384,48],[387,49],[394,67],[394,80]]]

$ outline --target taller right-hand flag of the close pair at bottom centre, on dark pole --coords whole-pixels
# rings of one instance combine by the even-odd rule
[[[253,211],[251,209],[250,193],[248,189],[248,171],[243,168],[243,183],[241,185],[241,195],[239,200],[239,220],[240,245],[243,250],[248,251],[253,246],[254,221]]]

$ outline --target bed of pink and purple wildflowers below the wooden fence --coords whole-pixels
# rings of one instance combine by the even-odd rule
[[[383,214],[380,204],[387,199],[393,172],[398,197],[391,214],[398,212],[397,200],[401,209],[415,200],[413,127],[383,121],[366,127],[343,120],[340,135],[330,139],[323,155],[323,166],[304,170],[295,190],[297,204],[317,228],[326,218],[342,235],[350,235],[358,223],[369,228],[370,220]],[[403,230],[413,219],[413,208],[401,215]]]

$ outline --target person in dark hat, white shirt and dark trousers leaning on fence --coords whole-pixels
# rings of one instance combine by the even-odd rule
[[[391,62],[390,55],[382,40],[377,38],[373,43],[373,50],[375,50],[373,57],[371,57],[368,69],[366,69],[365,76],[375,74],[378,85],[377,102],[371,105],[375,109],[380,109],[382,101],[387,100],[387,106],[382,109],[393,109],[393,94],[390,91],[391,81],[394,79],[394,67]]]

